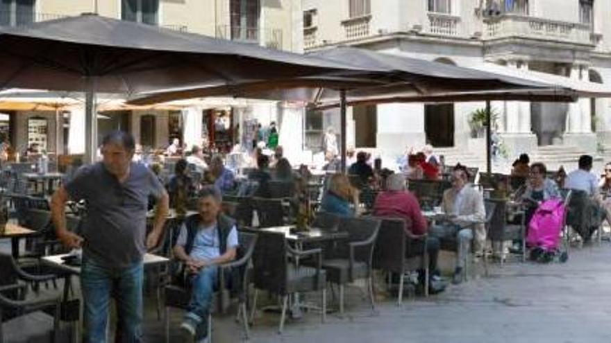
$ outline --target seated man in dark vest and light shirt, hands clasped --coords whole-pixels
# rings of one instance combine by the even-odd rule
[[[235,222],[221,213],[218,188],[202,188],[197,207],[199,213],[185,220],[174,246],[174,255],[185,262],[185,272],[192,281],[191,300],[181,324],[189,342],[193,338],[205,342],[216,265],[232,261],[238,245]]]

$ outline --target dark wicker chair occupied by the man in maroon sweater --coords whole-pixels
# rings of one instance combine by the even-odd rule
[[[407,226],[411,225],[401,218],[378,218],[381,220],[380,231],[374,249],[374,269],[399,274],[399,297],[397,305],[403,301],[403,284],[405,274],[424,270],[424,295],[428,296],[428,250],[426,235],[410,234]],[[416,245],[423,245],[421,254],[416,252]]]

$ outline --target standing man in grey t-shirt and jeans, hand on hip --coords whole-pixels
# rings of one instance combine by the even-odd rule
[[[117,342],[142,341],[142,259],[159,243],[169,198],[146,166],[131,161],[134,148],[131,134],[110,132],[102,140],[102,161],[80,168],[51,200],[60,241],[83,247],[84,342],[106,342],[111,294],[117,305]],[[145,239],[149,195],[158,200],[158,211]],[[66,228],[69,199],[87,202],[83,237]]]

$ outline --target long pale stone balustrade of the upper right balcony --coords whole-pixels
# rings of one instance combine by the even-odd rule
[[[484,39],[519,37],[572,44],[594,44],[589,25],[526,17],[501,15],[485,21]]]

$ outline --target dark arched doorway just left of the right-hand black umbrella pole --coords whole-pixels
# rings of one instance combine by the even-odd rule
[[[437,58],[435,62],[456,65],[449,58]],[[424,105],[424,134],[426,143],[434,147],[454,146],[454,104]]]

